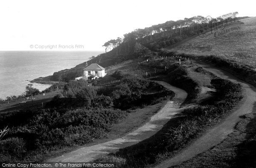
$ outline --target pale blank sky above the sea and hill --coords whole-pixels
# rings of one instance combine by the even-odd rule
[[[256,16],[252,0],[1,0],[0,51],[90,50],[134,29],[201,15]]]

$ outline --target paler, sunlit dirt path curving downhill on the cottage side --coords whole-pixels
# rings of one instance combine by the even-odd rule
[[[175,97],[172,101],[168,101],[168,103],[161,110],[159,110],[158,113],[152,116],[151,120],[145,125],[139,127],[137,130],[134,130],[131,133],[128,133],[122,138],[114,139],[90,147],[79,148],[76,151],[72,151],[62,156],[48,159],[47,162],[89,162],[99,158],[102,155],[115,152],[120,148],[134,145],[157,133],[157,131],[159,131],[163,127],[163,125],[169,121],[169,119],[171,119],[172,117],[174,117],[175,114],[179,113],[184,109],[179,107],[187,96],[187,93],[184,90],[173,87],[172,85],[167,84],[163,81],[157,82],[159,84],[162,84],[167,89],[172,90],[175,93]]]

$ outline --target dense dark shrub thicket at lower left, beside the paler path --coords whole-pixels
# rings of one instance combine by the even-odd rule
[[[32,153],[83,145],[103,138],[111,125],[126,115],[125,111],[113,108],[39,110],[28,122],[10,127],[0,141],[0,162],[23,160]]]

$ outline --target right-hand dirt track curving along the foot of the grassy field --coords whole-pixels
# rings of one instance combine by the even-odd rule
[[[174,165],[179,165],[181,162],[184,162],[188,159],[193,158],[197,154],[200,154],[204,151],[209,150],[215,145],[219,144],[227,135],[233,132],[234,126],[239,122],[239,116],[251,113],[253,110],[256,110],[256,88],[251,84],[248,84],[244,81],[241,81],[239,78],[236,78],[234,75],[226,72],[224,70],[218,69],[212,65],[197,63],[199,66],[205,68],[206,70],[214,73],[218,77],[228,79],[233,82],[240,82],[245,90],[245,96],[242,104],[234,110],[234,112],[228,116],[220,125],[209,130],[204,136],[201,136],[195,142],[193,142],[188,148],[181,151],[175,157],[163,162],[160,165],[157,165],[157,168],[166,168]]]

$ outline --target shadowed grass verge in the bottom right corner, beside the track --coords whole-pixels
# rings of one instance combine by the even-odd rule
[[[255,113],[241,116],[235,130],[214,148],[183,162],[175,168],[254,168],[256,167]]]

